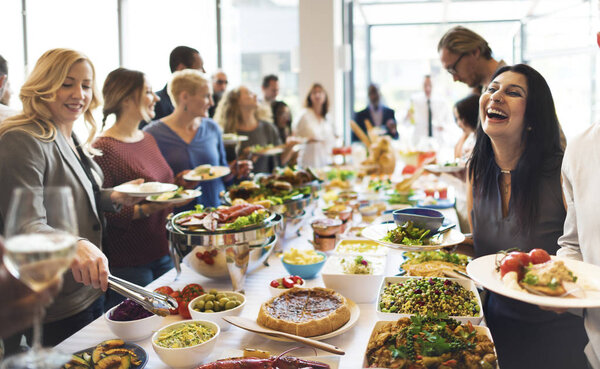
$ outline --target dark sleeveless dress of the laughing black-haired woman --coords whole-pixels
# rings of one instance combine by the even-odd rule
[[[550,160],[554,162],[547,164],[554,169],[540,182],[538,216],[529,235],[519,232],[513,197],[508,214],[503,217],[497,187],[486,198],[473,194],[471,215],[476,256],[513,247],[522,251],[541,248],[556,254],[566,216],[560,184],[562,156]],[[513,183],[516,175],[511,173]],[[497,166],[496,177],[500,177]],[[501,368],[587,368],[583,353],[587,335],[581,317],[559,315],[491,292],[484,302],[484,313]]]

